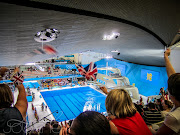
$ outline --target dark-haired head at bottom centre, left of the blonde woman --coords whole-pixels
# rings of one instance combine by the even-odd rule
[[[86,111],[77,116],[70,130],[76,135],[111,135],[108,119],[95,111]]]

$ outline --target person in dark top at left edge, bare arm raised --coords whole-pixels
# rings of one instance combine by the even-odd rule
[[[18,68],[14,70],[14,72],[18,71]],[[3,75],[4,73],[1,71],[0,74]],[[19,95],[16,104],[11,107],[14,102],[11,89],[7,84],[0,84],[0,133],[7,135],[25,134],[24,127],[28,106],[26,92],[23,84],[16,87],[19,90]]]

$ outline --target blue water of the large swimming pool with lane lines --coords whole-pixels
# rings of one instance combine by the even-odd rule
[[[85,110],[105,112],[106,96],[90,87],[41,92],[56,121],[76,118]]]

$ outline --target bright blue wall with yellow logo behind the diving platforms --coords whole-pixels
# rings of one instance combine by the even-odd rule
[[[154,66],[145,66],[138,65],[133,63],[128,63],[124,61],[119,61],[116,59],[102,59],[97,61],[97,67],[106,67],[108,62],[108,66],[119,68],[122,70],[122,76],[126,76],[129,78],[130,84],[133,83],[138,88],[139,93],[145,96],[158,95],[161,87],[165,87],[167,89],[167,73],[165,67],[154,67]],[[147,79],[147,73],[143,75],[142,71],[151,71],[152,74],[152,82],[145,81]]]

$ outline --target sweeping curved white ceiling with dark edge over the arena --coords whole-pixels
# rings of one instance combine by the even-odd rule
[[[106,3],[107,0],[94,4],[92,1],[76,1],[76,4],[68,1],[0,3],[0,65],[25,64],[52,57],[29,54],[41,47],[33,39],[34,35],[45,28],[55,28],[61,33],[49,44],[57,49],[58,56],[91,50],[128,62],[164,66],[165,45],[170,44],[180,28],[178,1],[162,3],[160,0],[161,3],[152,1],[146,5],[141,0],[134,4],[128,1]],[[87,5],[83,4],[85,2]],[[120,37],[102,40],[104,34],[112,32],[119,32]],[[120,55],[111,53],[112,50],[118,50]]]

